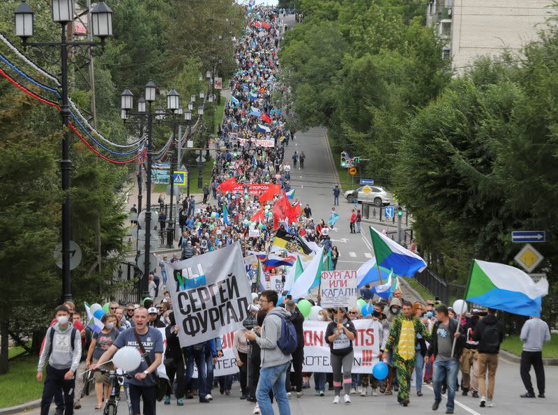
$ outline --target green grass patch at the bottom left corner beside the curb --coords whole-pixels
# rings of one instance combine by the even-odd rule
[[[20,350],[13,350],[20,349]],[[21,348],[8,350],[10,356],[22,352]],[[43,383],[36,381],[38,356],[22,356],[9,363],[9,372],[0,375],[0,408],[13,407],[39,399]]]

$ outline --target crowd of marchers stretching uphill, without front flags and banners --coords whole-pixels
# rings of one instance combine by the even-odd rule
[[[287,267],[293,266],[287,259],[292,252],[304,253],[301,245],[324,246],[324,255],[331,257],[333,269],[340,256],[329,237],[334,221],[315,223],[308,204],[302,207],[294,197],[287,198],[292,192],[290,171],[304,168],[306,155],[295,152],[292,166],[285,161],[285,146],[296,137],[285,126],[285,114],[271,99],[273,92],[280,88],[276,80],[278,46],[285,27],[279,14],[269,8],[254,8],[248,17],[245,35],[236,52],[239,69],[231,80],[231,98],[225,108],[223,125],[218,128],[211,183],[204,186],[202,202],[197,202],[194,196],[187,197],[179,212],[180,252],[171,259],[163,257],[162,281],[154,273],[150,276],[151,297],[142,304],[110,303],[100,318],[103,327],[98,332],[91,325],[84,327],[80,323],[73,303],[56,308],[38,363],[39,381],[47,364],[41,414],[48,413],[53,399],[57,414],[65,410],[71,415],[73,409],[79,409],[81,402],[75,397],[80,396],[82,373],[86,370],[95,372],[95,409],[102,409],[112,386],[107,374],[97,369],[110,370],[112,356],[124,346],[139,347],[143,356],[140,366],[129,372],[133,377],[124,380],[130,414],[142,413],[140,400],[144,414],[156,413],[154,375],[159,365],[165,366],[169,377],[163,398],[165,405],[172,405],[173,395],[179,406],[195,397],[199,403],[206,404],[216,394],[213,389],[218,388],[220,395],[231,395],[235,382],[239,382],[241,400],[254,405],[252,413],[264,415],[273,414],[273,400],[281,415],[290,414],[289,398],[293,393],[302,398],[310,382],[317,396],[332,391],[335,405],[349,404],[351,395],[357,393],[373,399],[397,392],[398,403],[407,407],[413,385],[416,395],[421,397],[424,383],[433,384],[433,410],[438,409],[442,394],[446,393],[446,413],[452,414],[458,388],[462,395],[471,393],[473,398],[478,398],[481,407],[494,405],[495,372],[504,336],[496,310],[474,309],[467,315],[457,316],[451,308],[433,300],[409,303],[402,299],[399,290],[393,292],[392,298],[377,301],[363,292],[363,298],[373,304],[370,315],[362,315],[357,307],[324,308],[319,312],[318,320],[328,322],[326,343],[331,352],[331,372],[303,372],[305,317],[296,305],[300,299],[288,295],[279,298],[275,290],[262,289],[257,266],[247,271],[252,287],[250,315],[243,322],[243,329],[233,335],[238,374],[213,376],[216,361],[223,356],[221,338],[181,347],[181,326],[166,291],[166,262],[189,259],[238,242],[245,257],[271,251],[278,259],[284,259],[266,264],[263,271],[264,280],[276,275],[282,276],[285,282]],[[265,190],[252,190],[258,186],[264,186]],[[333,190],[335,204],[339,194],[338,188]],[[360,232],[360,219],[361,213],[355,209],[349,219],[352,232]],[[292,235],[303,243],[297,245],[289,240],[278,246],[274,243],[278,232]],[[308,301],[319,305],[319,298]],[[382,326],[378,339],[379,361],[389,366],[385,379],[352,372],[354,322],[365,318],[375,319]],[[292,349],[285,349],[282,345],[292,335],[289,324],[295,335],[294,344]],[[165,334],[159,329],[164,329]],[[543,341],[550,339],[550,333],[547,338],[548,326],[540,319],[529,320],[524,330],[526,354],[521,375],[527,388],[525,397],[534,397],[529,377],[531,364],[536,368],[539,397],[543,397],[540,351]],[[197,378],[193,377],[194,368]]]

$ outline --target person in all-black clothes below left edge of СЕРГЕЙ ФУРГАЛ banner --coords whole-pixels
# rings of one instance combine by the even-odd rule
[[[170,324],[165,329],[167,337],[167,349],[165,350],[165,370],[169,377],[169,385],[167,386],[167,393],[165,394],[165,405],[170,405],[170,394],[172,393],[171,385],[174,383],[174,375],[176,375],[176,405],[181,407],[184,405],[182,399],[184,396],[184,389],[186,388],[186,372],[184,370],[184,356],[179,343],[179,330],[180,327],[176,326],[174,319],[174,312],[169,313]]]

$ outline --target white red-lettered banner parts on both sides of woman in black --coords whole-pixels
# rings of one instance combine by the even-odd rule
[[[326,343],[328,322],[304,321],[304,362],[303,372],[331,372],[329,344]],[[378,363],[382,324],[373,319],[353,320],[354,361],[352,373],[372,373]]]

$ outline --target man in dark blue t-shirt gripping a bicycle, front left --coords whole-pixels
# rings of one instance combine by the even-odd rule
[[[120,333],[118,338],[114,340],[112,346],[103,353],[103,356],[100,356],[97,364],[91,365],[90,368],[94,370],[104,362],[110,360],[112,355],[116,353],[116,350],[121,347],[132,346],[140,351],[140,345],[136,338],[137,333],[145,349],[147,359],[142,356],[140,366],[138,366],[136,370],[128,372],[130,375],[134,375],[133,379],[126,379],[124,381],[126,395],[130,405],[130,415],[139,415],[142,413],[140,411],[140,397],[142,397],[144,401],[143,414],[155,415],[157,398],[155,376],[153,372],[156,372],[163,359],[163,335],[161,335],[158,329],[147,326],[149,315],[147,309],[144,307],[135,309],[133,321],[134,327]],[[148,365],[146,360],[150,361],[151,365]]]

